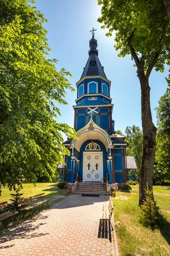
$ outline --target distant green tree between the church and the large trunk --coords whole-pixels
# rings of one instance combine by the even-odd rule
[[[139,170],[142,160],[143,133],[139,126],[133,125],[126,128],[126,141],[129,146],[126,149],[127,156],[135,157],[136,165]]]

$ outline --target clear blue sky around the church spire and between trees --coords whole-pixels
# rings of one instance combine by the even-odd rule
[[[89,40],[92,35],[89,32],[93,27],[97,29],[95,38],[98,43],[99,60],[104,66],[105,74],[111,80],[111,98],[113,106],[113,119],[115,129],[125,132],[127,126],[136,125],[142,129],[141,122],[141,92],[139,79],[136,76],[136,68],[133,67],[130,55],[119,58],[114,49],[114,35],[105,36],[107,30],[100,29],[101,24],[97,18],[101,16],[101,6],[97,0],[37,0],[37,9],[42,12],[49,24],[45,24],[48,30],[48,44],[52,52],[50,58],[59,61],[57,69],[65,67],[70,71],[73,79],[71,84],[76,89],[83,67],[88,60]],[[167,89],[165,77],[168,76],[168,67],[164,73],[152,71],[150,76],[150,98],[153,122],[156,125],[156,111],[158,100]],[[58,122],[74,126],[74,110],[76,92],[67,91],[66,101],[68,105],[58,105],[62,116]],[[66,137],[64,136],[64,139]]]

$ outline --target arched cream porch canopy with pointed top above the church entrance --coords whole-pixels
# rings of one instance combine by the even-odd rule
[[[86,140],[100,140],[105,145],[106,151],[108,151],[108,148],[113,148],[111,137],[105,130],[96,125],[92,119],[77,132],[77,137],[77,140],[73,139],[71,141],[70,146],[72,149],[76,148],[77,151],[80,151],[82,144]]]

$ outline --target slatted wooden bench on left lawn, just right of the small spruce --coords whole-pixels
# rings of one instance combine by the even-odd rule
[[[45,200],[43,200],[44,197],[45,197],[45,193],[41,193],[41,194],[38,194],[38,195],[33,195],[33,196],[28,197],[28,198],[23,198],[21,200],[18,200],[17,204],[18,204],[18,207],[21,207],[23,205],[26,205],[28,203],[34,202],[38,199],[41,199],[40,202],[37,202],[35,204],[31,204],[29,206],[26,206],[26,207],[20,209],[20,211],[27,211],[28,210],[30,212],[30,215],[31,215],[31,218],[32,218],[32,214],[31,214],[31,209],[32,208],[34,208],[36,206],[39,206],[40,204],[42,204],[42,207],[43,207],[44,203],[46,203],[48,205],[48,201],[51,198],[46,198]],[[48,208],[50,208],[49,205],[48,205]]]

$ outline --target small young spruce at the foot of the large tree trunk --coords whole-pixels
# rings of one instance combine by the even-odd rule
[[[140,221],[145,226],[154,230],[156,227],[159,226],[159,207],[156,206],[156,201],[153,200],[153,191],[149,190],[147,185],[147,189],[145,191],[145,200],[141,206],[141,211],[139,213]]]

